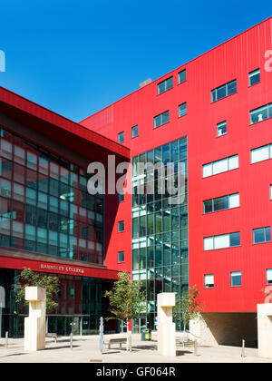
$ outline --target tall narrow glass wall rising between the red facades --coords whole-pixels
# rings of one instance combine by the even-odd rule
[[[171,203],[167,171],[156,171],[153,167],[151,172],[139,175],[140,162],[164,166],[172,163],[173,184],[177,186],[179,176],[184,179],[179,203]],[[147,299],[145,318],[151,329],[155,328],[158,293],[175,292],[177,299],[188,293],[187,179],[187,137],[132,159],[132,279],[141,280]],[[140,183],[143,192],[139,192]],[[160,191],[163,183],[164,192]],[[180,321],[176,323],[177,329],[181,329]]]

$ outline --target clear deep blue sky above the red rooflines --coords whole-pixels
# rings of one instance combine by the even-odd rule
[[[271,0],[2,1],[0,85],[79,122],[271,10]]]

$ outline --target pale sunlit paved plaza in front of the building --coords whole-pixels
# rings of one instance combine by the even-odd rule
[[[153,335],[151,341],[141,341],[141,335],[132,335],[132,351],[126,346],[112,345],[108,349],[110,337],[125,337],[125,334],[104,335],[102,353],[99,350],[99,336],[73,337],[73,349],[70,337],[46,338],[46,347],[37,352],[24,351],[23,338],[9,338],[5,347],[5,338],[0,341],[0,363],[272,363],[272,359],[257,356],[257,348],[245,349],[245,357],[241,357],[241,347],[198,346],[178,347],[176,357],[163,357],[157,353],[157,341]]]

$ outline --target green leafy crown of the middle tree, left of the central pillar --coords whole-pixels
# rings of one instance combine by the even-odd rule
[[[110,299],[112,314],[120,320],[139,318],[146,308],[141,281],[131,282],[130,273],[127,271],[119,272],[118,277],[119,280],[114,282],[112,289],[104,295]]]

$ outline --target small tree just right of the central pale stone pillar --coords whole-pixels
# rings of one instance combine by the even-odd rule
[[[189,287],[189,293],[183,295],[173,308],[173,318],[175,320],[181,320],[184,326],[184,332],[189,320],[193,318],[199,318],[200,312],[203,309],[203,305],[199,302],[197,297],[199,296],[199,290],[196,286]],[[181,318],[180,318],[181,313]]]

